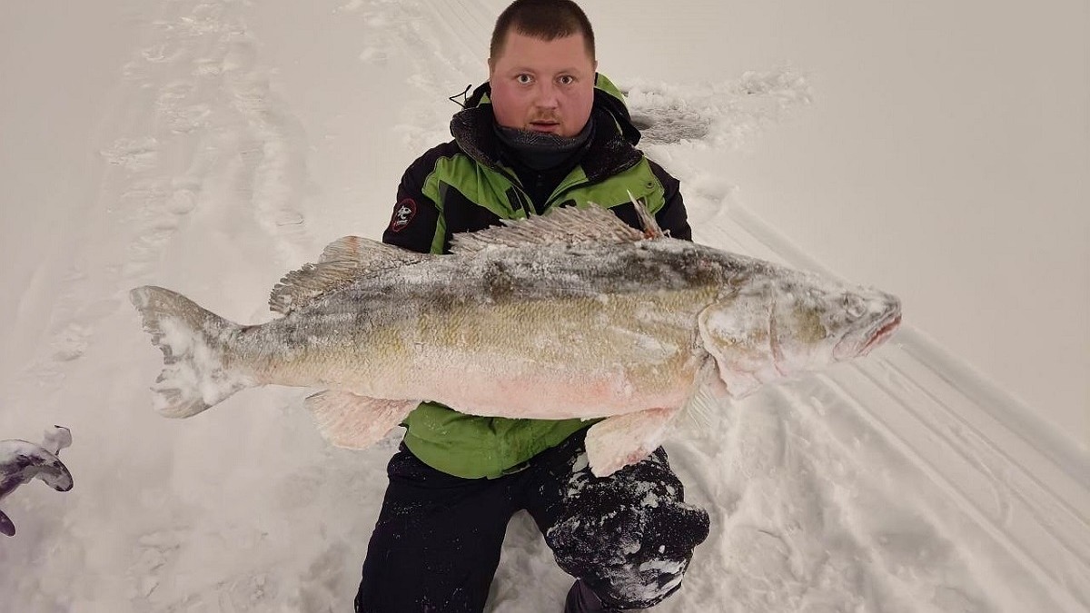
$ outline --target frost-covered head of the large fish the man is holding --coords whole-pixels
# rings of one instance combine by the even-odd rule
[[[896,297],[795,272],[735,281],[699,317],[703,346],[736,398],[865,356],[899,324]]]

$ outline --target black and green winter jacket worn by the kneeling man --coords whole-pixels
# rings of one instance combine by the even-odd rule
[[[455,233],[588,203],[608,207],[639,228],[629,192],[670,236],[690,239],[678,181],[635,148],[640,133],[620,92],[600,74],[594,95],[594,132],[570,160],[570,170],[535,178],[508,160],[494,130],[488,85],[479,87],[450,122],[455,140],[428,151],[405,170],[383,241],[422,253],[448,253]],[[525,184],[541,177],[548,179],[547,185],[557,183],[555,189]],[[536,202],[531,194],[537,195]],[[590,423],[484,418],[424,402],[405,419],[404,443],[425,464],[449,474],[493,478],[518,470]]]

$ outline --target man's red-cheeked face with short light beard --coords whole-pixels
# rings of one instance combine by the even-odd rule
[[[579,134],[591,117],[596,69],[582,34],[542,40],[508,32],[500,56],[488,59],[496,121],[558,136]]]

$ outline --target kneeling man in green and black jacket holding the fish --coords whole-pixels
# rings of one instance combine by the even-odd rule
[[[591,24],[570,0],[508,7],[493,32],[488,83],[451,120],[455,140],[405,171],[384,241],[446,253],[456,232],[591,202],[639,227],[631,197],[689,239],[678,181],[633,147],[639,132],[594,58]],[[422,404],[388,467],[356,611],[483,611],[520,509],[576,577],[565,611],[642,609],[677,590],[707,514],[683,502],[662,448],[593,477],[583,449],[591,423]]]

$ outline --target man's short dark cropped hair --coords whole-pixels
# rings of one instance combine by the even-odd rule
[[[507,33],[518,32],[542,40],[555,40],[582,34],[586,52],[594,59],[594,29],[586,14],[571,0],[514,0],[496,19],[488,55],[498,58]]]

